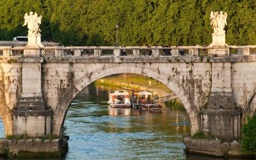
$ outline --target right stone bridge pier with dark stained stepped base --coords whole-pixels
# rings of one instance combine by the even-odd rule
[[[231,90],[231,63],[212,63],[212,88],[207,108],[201,112],[201,129],[220,140],[240,138],[240,110]]]

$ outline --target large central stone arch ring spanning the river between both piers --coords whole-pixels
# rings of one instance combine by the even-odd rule
[[[165,84],[180,98],[180,100],[184,104],[190,120],[191,135],[193,135],[200,129],[200,117],[198,114],[198,110],[194,105],[194,102],[192,101],[188,92],[186,92],[185,88],[180,85],[177,80],[172,78],[172,76],[168,76],[168,74],[161,72],[159,69],[152,68],[150,66],[146,66],[143,64],[124,63],[111,64],[98,70],[92,70],[90,74],[83,76],[77,82],[75,82],[60,98],[60,101],[56,106],[52,122],[52,134],[61,135],[68,107],[70,106],[72,100],[84,87],[88,86],[89,84],[100,78],[120,73],[141,74],[159,80],[161,83]]]

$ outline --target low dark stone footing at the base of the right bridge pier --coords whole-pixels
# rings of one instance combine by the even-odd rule
[[[221,140],[192,139],[184,137],[184,143],[189,152],[216,157],[252,157],[253,155],[242,154],[243,149],[238,142],[221,142]]]

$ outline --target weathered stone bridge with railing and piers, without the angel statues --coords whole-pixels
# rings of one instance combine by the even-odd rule
[[[6,135],[62,136],[76,95],[119,73],[152,77],[170,88],[186,108],[192,135],[202,130],[239,139],[241,124],[256,108],[256,46],[0,47],[0,56]]]

